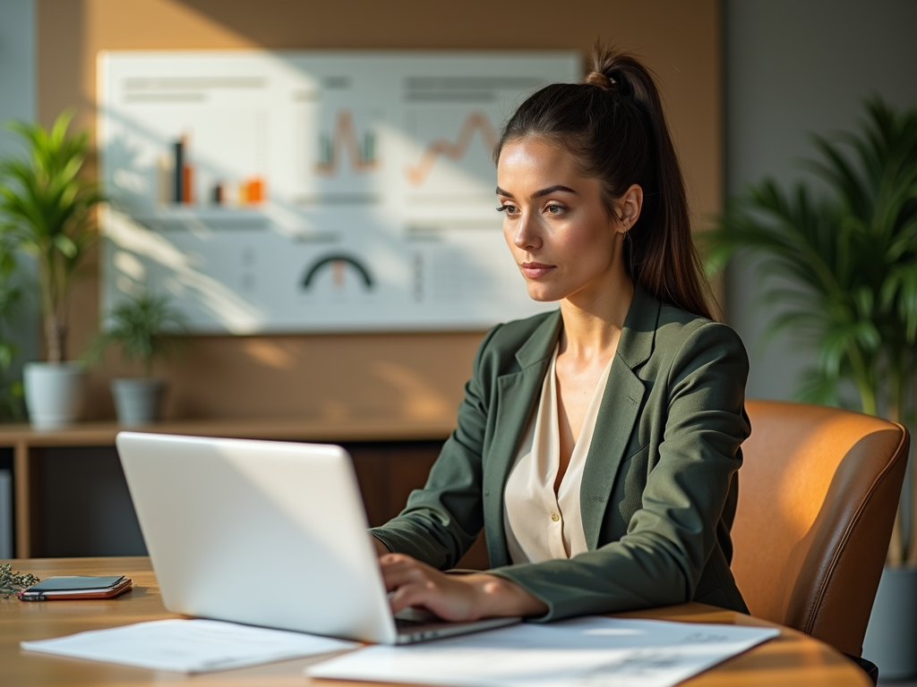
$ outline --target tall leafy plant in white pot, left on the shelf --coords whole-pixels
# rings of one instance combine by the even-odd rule
[[[46,363],[24,368],[25,395],[32,424],[49,429],[76,420],[83,367],[66,362],[67,311],[77,267],[93,245],[94,184],[80,176],[86,158],[85,132],[67,133],[64,113],[46,130],[39,124],[9,125],[26,148],[25,157],[0,162],[0,230],[35,257],[38,266]]]

